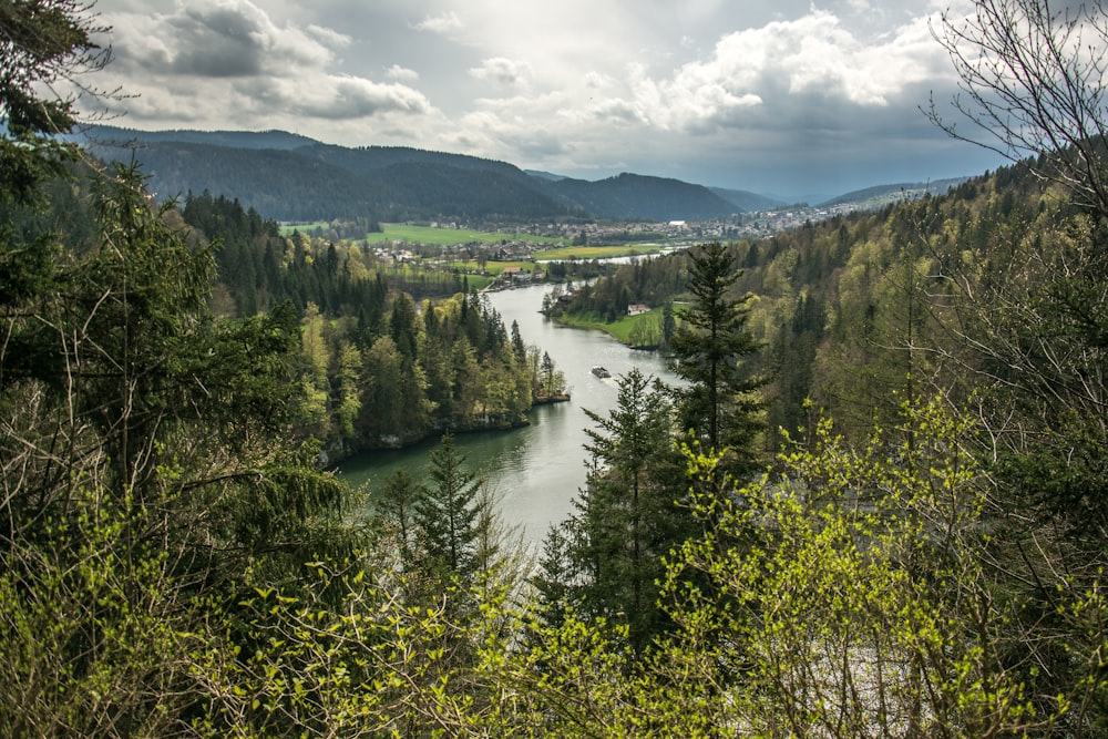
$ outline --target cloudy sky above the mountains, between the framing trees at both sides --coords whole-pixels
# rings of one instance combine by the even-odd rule
[[[954,8],[961,0],[953,0]],[[598,179],[835,195],[998,162],[920,112],[954,92],[932,0],[99,0],[116,125],[281,129]]]

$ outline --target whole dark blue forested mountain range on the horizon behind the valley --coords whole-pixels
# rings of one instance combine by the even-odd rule
[[[494,160],[404,146],[345,147],[281,131],[85,132],[96,155],[132,152],[158,197],[204,191],[278,220],[593,216],[701,220],[741,208],[707,187],[623,174],[599,182],[529,174]]]

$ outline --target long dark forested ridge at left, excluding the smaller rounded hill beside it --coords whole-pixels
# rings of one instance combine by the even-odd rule
[[[213,143],[218,142],[218,143]],[[407,147],[348,148],[269,133],[137,132],[101,127],[103,158],[134,153],[161,198],[205,191],[268,218],[527,219],[581,215],[517,167]]]

